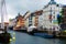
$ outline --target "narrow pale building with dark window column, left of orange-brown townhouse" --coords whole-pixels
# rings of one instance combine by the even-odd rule
[[[25,18],[25,26],[29,28],[30,25],[34,24],[35,24],[35,15],[34,13],[29,13],[29,15]]]

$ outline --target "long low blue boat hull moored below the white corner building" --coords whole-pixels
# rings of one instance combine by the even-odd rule
[[[42,36],[42,37],[45,37],[45,38],[53,38],[54,35],[48,35],[47,32],[43,32],[43,31],[32,31],[32,32],[28,32],[29,34],[31,35],[35,35],[35,36]]]

